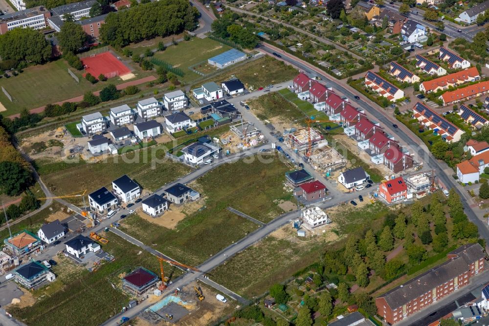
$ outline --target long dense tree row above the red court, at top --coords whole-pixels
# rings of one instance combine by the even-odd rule
[[[199,11],[185,0],[161,0],[110,13],[100,28],[100,39],[125,47],[155,36],[178,34],[197,28]]]

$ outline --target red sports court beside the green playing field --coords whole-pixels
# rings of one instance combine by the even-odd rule
[[[107,78],[122,76],[131,72],[111,52],[103,52],[95,56],[80,59],[85,66],[85,71],[97,78],[103,73]]]

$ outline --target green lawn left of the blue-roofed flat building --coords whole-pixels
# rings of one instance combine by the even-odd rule
[[[207,63],[207,59],[230,48],[209,38],[200,39],[194,37],[190,41],[182,41],[176,46],[172,45],[164,51],[156,52],[154,57],[183,70],[183,81],[187,83],[201,77],[200,74],[190,70],[189,67],[200,63],[203,67]],[[199,70],[198,67],[197,70]],[[218,71],[218,69],[213,68],[212,71]],[[212,71],[206,71],[206,73]]]

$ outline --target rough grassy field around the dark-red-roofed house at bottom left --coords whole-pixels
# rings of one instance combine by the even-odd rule
[[[36,326],[84,326],[99,325],[113,316],[114,311],[120,311],[127,306],[130,297],[122,292],[118,285],[119,275],[128,273],[136,267],[143,266],[158,274],[159,263],[155,256],[110,233],[106,236],[109,240],[103,250],[115,257],[110,263],[103,264],[96,272],[76,266],[69,266],[71,261],[63,258],[60,264],[54,268],[58,271],[58,280],[48,288],[37,290],[34,296],[40,297],[34,305],[20,309],[16,306],[8,310],[17,319],[28,325]],[[71,268],[70,268],[71,267]],[[166,266],[168,274],[174,270]],[[180,274],[179,270],[174,276]],[[69,276],[69,277],[67,277]],[[116,285],[112,288],[111,283]]]

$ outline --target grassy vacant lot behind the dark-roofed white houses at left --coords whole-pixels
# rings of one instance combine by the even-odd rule
[[[159,150],[152,161],[154,148],[129,152],[123,156],[110,157],[107,162],[64,163],[47,160],[37,161],[37,169],[43,181],[56,195],[65,195],[87,189],[93,191],[127,174],[144,189],[154,191],[191,171],[191,168],[171,160],[163,162],[163,150]],[[154,162],[155,168],[152,168]]]

